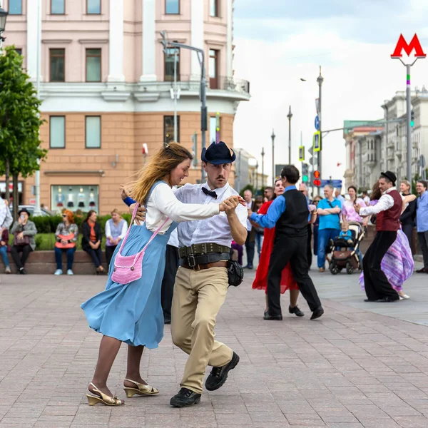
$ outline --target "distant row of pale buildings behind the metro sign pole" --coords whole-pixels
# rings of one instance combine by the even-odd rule
[[[382,121],[345,121],[347,148],[345,183],[370,188],[381,171],[391,170],[397,179],[407,178],[406,93],[398,91],[382,104]],[[414,123],[411,128],[412,178],[423,176],[428,158],[428,91],[412,91]],[[370,128],[376,123],[381,127]],[[362,126],[365,125],[365,126]],[[352,128],[355,126],[355,128]],[[373,148],[372,148],[373,147]],[[426,165],[425,165],[426,168]],[[371,183],[369,185],[368,183]]]

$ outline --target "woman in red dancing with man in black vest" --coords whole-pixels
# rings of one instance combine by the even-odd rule
[[[282,185],[282,181],[275,181],[275,188],[273,189],[273,198],[274,200],[277,196],[282,195],[284,193],[284,186]],[[267,210],[272,203],[272,200],[265,202],[260,210],[258,210],[259,214],[266,214]],[[263,246],[262,246],[262,254],[260,255],[260,261],[257,268],[257,272],[255,272],[255,279],[253,282],[253,288],[255,290],[265,290],[267,293],[267,271],[269,270],[269,260],[270,253],[272,253],[273,241],[275,239],[275,228],[266,229],[265,235],[263,238]],[[290,290],[290,306],[288,307],[288,311],[290,314],[295,314],[297,317],[303,317],[305,314],[297,307],[297,298],[299,297],[299,288],[297,287],[297,283],[292,277],[292,272],[290,269],[290,265],[286,265],[284,270],[282,270],[282,278],[281,278],[281,294],[284,294],[286,290]],[[267,294],[266,294],[266,309],[267,307]]]

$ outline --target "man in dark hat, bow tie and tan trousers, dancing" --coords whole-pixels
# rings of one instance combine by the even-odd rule
[[[222,203],[225,213],[206,220],[179,223],[180,267],[175,277],[171,335],[175,346],[189,357],[180,391],[170,399],[173,407],[200,402],[206,367],[213,367],[205,388],[223,386],[239,357],[214,339],[215,319],[228,292],[227,264],[232,240],[243,245],[247,238],[248,211],[230,196],[238,195],[228,183],[236,155],[223,141],[203,149],[202,165],[207,174],[203,184],[185,184],[175,191],[183,203]],[[133,210],[131,205],[130,210]],[[144,211],[143,209],[139,210]],[[138,215],[139,216],[139,215]],[[137,216],[137,218],[138,218]]]

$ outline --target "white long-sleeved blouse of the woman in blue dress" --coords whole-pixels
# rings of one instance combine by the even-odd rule
[[[163,228],[159,231],[163,235],[173,221],[183,222],[203,220],[220,213],[217,203],[200,205],[196,203],[182,203],[166,183],[160,183],[153,189],[147,203],[146,228],[154,232],[167,218]]]

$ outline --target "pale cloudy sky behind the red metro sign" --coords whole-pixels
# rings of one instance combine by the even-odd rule
[[[235,0],[234,8],[235,76],[250,81],[252,95],[238,107],[234,144],[259,163],[264,146],[269,173],[272,128],[275,163],[288,163],[289,105],[292,163],[298,163],[300,131],[303,145],[312,145],[320,65],[322,129],[327,130],[342,128],[345,119],[382,118],[383,101],[405,91],[406,69],[390,58],[400,33],[409,42],[416,32],[428,54],[427,0]],[[428,58],[412,67],[412,87],[424,84],[428,88]],[[324,138],[322,156],[322,178],[342,178],[342,131]]]

